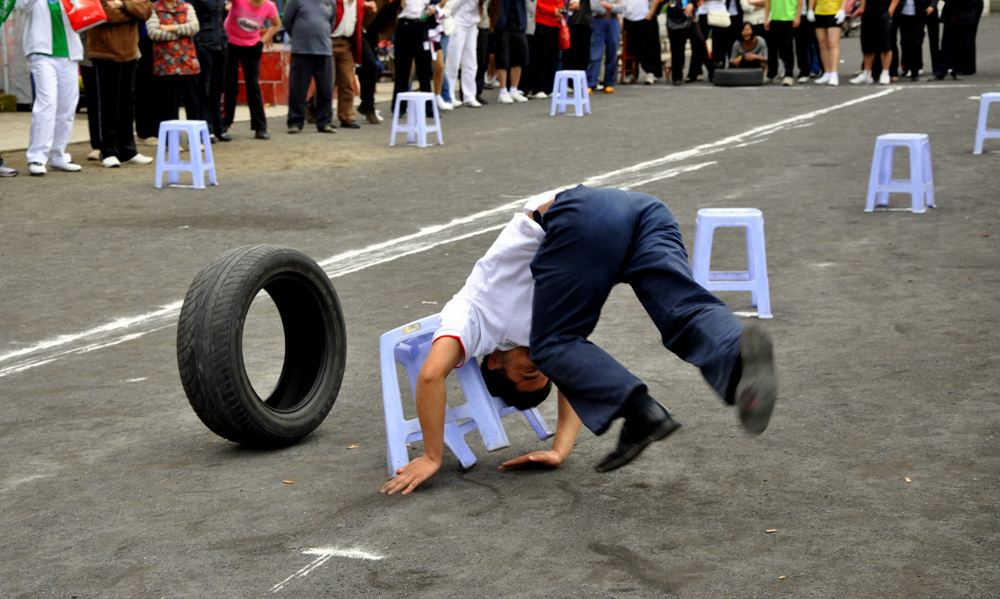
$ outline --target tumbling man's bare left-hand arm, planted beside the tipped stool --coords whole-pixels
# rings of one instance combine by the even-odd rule
[[[462,344],[454,337],[441,337],[431,346],[417,377],[417,417],[424,436],[424,455],[396,471],[382,485],[382,493],[408,495],[434,476],[444,456],[444,414],[448,406],[445,377],[462,359]]]

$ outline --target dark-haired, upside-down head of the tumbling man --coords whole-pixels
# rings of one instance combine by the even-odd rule
[[[479,363],[490,394],[519,410],[542,403],[549,396],[552,381],[535,368],[527,347],[496,350]]]

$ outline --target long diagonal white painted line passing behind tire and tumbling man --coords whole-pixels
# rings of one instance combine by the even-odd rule
[[[954,86],[950,86],[954,87]],[[617,169],[591,177],[585,180],[584,185],[619,187],[632,189],[639,185],[651,183],[661,179],[675,177],[683,173],[693,172],[698,169],[715,164],[706,162],[698,165],[667,169],[656,172],[644,172],[658,169],[665,165],[688,160],[692,158],[703,158],[710,154],[738,149],[763,141],[763,137],[784,131],[789,128],[801,126],[803,123],[829,114],[835,110],[849,108],[862,102],[882,98],[897,91],[899,88],[890,87],[878,93],[874,93],[861,98],[855,98],[847,102],[813,110],[797,116],[789,117],[768,125],[754,127],[742,133],[731,135],[717,141],[702,144],[689,150],[673,152],[662,158],[640,162],[632,166]],[[565,187],[550,189],[538,196],[551,196]],[[366,268],[385,264],[397,260],[404,256],[410,256],[420,252],[425,252],[434,247],[455,243],[463,239],[482,235],[490,231],[503,228],[510,219],[513,211],[523,206],[529,198],[520,198],[512,202],[497,206],[490,210],[478,212],[469,216],[456,218],[442,225],[426,227],[412,235],[406,235],[391,239],[382,243],[370,245],[359,250],[351,250],[336,256],[332,256],[319,262],[330,278],[344,276],[358,272]],[[117,345],[133,339],[138,339],[144,335],[173,326],[177,322],[183,301],[174,302],[163,306],[153,312],[119,318],[108,324],[75,333],[72,335],[60,335],[53,339],[48,339],[30,345],[28,347],[0,354],[0,364],[8,364],[0,367],[0,378],[17,372],[23,372],[32,368],[37,368],[60,358],[73,354],[87,353],[104,347]]]

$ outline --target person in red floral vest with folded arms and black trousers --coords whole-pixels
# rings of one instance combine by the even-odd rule
[[[194,7],[184,0],[158,0],[146,21],[146,32],[153,41],[153,75],[158,82],[157,97],[161,121],[178,117],[177,97],[184,98],[188,118],[200,119],[198,78],[201,65],[194,47],[198,33]]]

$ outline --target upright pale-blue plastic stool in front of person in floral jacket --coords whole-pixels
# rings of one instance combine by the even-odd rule
[[[182,161],[181,132],[187,134],[191,160]],[[202,150],[204,148],[204,150]],[[168,155],[169,154],[169,155]],[[215,180],[215,159],[212,156],[212,140],[205,121],[163,121],[160,123],[159,140],[156,144],[156,187],[163,187],[163,173],[167,173],[167,183],[176,185],[179,173],[191,173],[195,189],[205,189],[205,173],[212,185]]]

